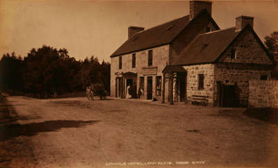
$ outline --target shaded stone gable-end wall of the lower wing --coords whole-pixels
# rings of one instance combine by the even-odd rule
[[[236,49],[236,58],[231,58],[231,49]],[[248,81],[260,80],[261,75],[271,76],[272,61],[262,49],[250,30],[243,32],[223,53],[215,68],[215,80],[238,86],[240,105],[247,106]],[[215,100],[216,100],[215,94]]]

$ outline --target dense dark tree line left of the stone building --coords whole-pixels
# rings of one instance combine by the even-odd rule
[[[1,90],[50,96],[83,91],[91,83],[101,83],[110,92],[109,62],[100,63],[94,56],[77,61],[67,49],[45,45],[24,58],[6,53],[0,60]]]

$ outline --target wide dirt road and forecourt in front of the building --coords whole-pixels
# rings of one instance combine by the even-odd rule
[[[243,110],[10,96],[0,167],[276,167],[278,126]]]

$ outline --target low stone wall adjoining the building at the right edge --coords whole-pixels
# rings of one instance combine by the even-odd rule
[[[278,108],[278,81],[249,81],[250,108]]]

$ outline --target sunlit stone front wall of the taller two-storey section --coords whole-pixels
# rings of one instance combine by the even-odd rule
[[[153,64],[152,67],[157,67],[156,75],[147,75],[145,74],[143,67],[148,67],[148,51],[153,51]],[[140,83],[140,76],[145,77],[145,92],[144,95],[141,95],[140,98],[147,99],[147,76],[152,76],[153,80],[153,97],[156,99],[161,99],[161,96],[156,96],[156,77],[161,76],[163,78],[162,70],[167,65],[169,61],[169,45],[164,45],[161,47],[155,47],[153,49],[147,49],[143,51],[134,52],[136,53],[136,67],[132,68],[132,54],[122,55],[122,69],[119,69],[119,56],[111,58],[111,96],[115,97],[115,75],[116,72],[134,72],[137,73],[137,90]],[[166,86],[166,85],[165,85]],[[162,89],[162,88],[161,88]],[[166,92],[165,92],[166,94]],[[165,96],[166,97],[166,96]]]

